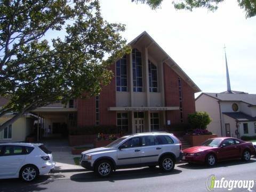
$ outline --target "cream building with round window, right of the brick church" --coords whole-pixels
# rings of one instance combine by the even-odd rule
[[[207,129],[220,137],[256,135],[256,94],[202,93],[196,98],[196,110],[209,113],[212,122]]]

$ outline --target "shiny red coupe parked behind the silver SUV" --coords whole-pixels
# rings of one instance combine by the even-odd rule
[[[182,159],[190,163],[206,163],[209,166],[213,166],[218,161],[235,158],[250,161],[253,154],[255,154],[255,148],[252,142],[219,137],[208,139],[201,146],[184,149]]]

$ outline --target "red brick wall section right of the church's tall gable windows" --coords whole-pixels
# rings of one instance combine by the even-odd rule
[[[165,105],[167,107],[178,107],[179,102],[179,83],[178,74],[174,72],[166,63],[163,65],[164,70],[164,94]],[[193,89],[181,79],[182,101],[183,101],[183,122],[187,123],[188,114],[195,112],[195,96]],[[170,120],[171,124],[180,123],[180,111],[166,111],[166,121]]]

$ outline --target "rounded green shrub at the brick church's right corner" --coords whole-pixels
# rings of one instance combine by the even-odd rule
[[[188,114],[188,123],[193,129],[206,129],[211,121],[206,111],[196,111],[193,114]]]

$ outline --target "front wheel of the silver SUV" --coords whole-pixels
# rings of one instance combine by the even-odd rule
[[[113,171],[113,166],[112,163],[108,160],[102,160],[97,163],[94,169],[95,173],[101,178],[106,178],[108,177],[112,171]]]

